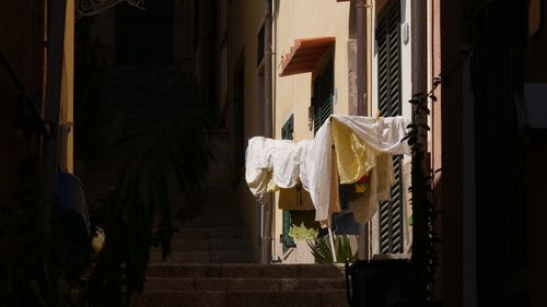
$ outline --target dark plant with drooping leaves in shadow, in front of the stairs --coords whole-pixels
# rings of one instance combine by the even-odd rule
[[[171,253],[175,228],[170,196],[176,191],[170,182],[176,180],[182,193],[199,191],[211,156],[206,128],[203,120],[179,117],[163,129],[144,129],[121,141],[148,138],[149,146],[124,163],[106,201],[106,239],[90,283],[95,296],[91,306],[124,304],[142,291],[151,245],[161,247],[164,259]]]

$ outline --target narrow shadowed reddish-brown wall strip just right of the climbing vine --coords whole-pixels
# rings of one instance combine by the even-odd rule
[[[462,3],[445,1],[441,10],[441,67],[453,67],[461,60]],[[439,95],[442,102],[442,186],[440,236],[445,244],[441,250],[442,293],[445,306],[462,306],[462,70],[451,75],[451,84]]]

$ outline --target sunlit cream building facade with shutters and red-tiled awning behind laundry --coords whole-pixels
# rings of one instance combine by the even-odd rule
[[[356,3],[331,0],[272,1],[271,42],[264,42],[264,27],[266,26],[264,3],[228,1],[222,4],[228,11],[228,35],[225,36],[228,39],[225,43],[219,43],[221,46],[219,47],[219,71],[222,74],[219,93],[225,92],[226,108],[230,110],[228,113],[231,122],[229,128],[234,130],[232,138],[235,167],[238,167],[237,156],[242,156],[241,149],[245,147],[245,141],[255,135],[265,135],[267,130],[265,125],[269,122],[265,118],[265,84],[267,84],[265,82],[267,80],[264,75],[264,57],[269,56],[261,52],[265,44],[271,44],[274,54],[271,80],[274,103],[272,116],[269,119],[272,138],[294,141],[313,139],[315,131],[328,115],[358,114]],[[391,9],[391,13],[386,13],[386,10],[383,10],[384,7]],[[222,15],[220,9],[219,15]],[[363,26],[368,26],[369,29],[365,46],[368,52],[363,56],[368,58],[365,61],[368,67],[364,70],[368,71],[370,82],[365,92],[366,114],[362,115],[410,117],[410,105],[405,102],[411,97],[411,44],[409,33],[401,34],[404,28],[408,29],[410,26],[410,4],[409,2],[400,4],[398,1],[397,3],[384,1],[376,7],[369,7],[366,14],[369,23],[364,23]],[[383,32],[384,36],[377,40],[372,25],[380,20],[382,26],[387,26],[391,20],[384,19],[384,15],[392,20],[395,17],[396,21],[391,25],[392,28],[386,28]],[[222,21],[222,17],[220,20]],[[387,31],[392,31],[392,35],[396,37],[387,36]],[[220,31],[220,33],[223,32],[224,29]],[[385,45],[393,44],[393,42],[396,45]],[[385,46],[379,46],[379,44]],[[397,51],[391,55],[391,58],[382,56],[379,60],[379,52],[386,48]],[[228,50],[228,56],[224,55],[226,52],[224,49]],[[224,59],[228,59],[226,72],[223,71]],[[386,59],[391,62],[384,62]],[[385,64],[393,66],[395,70],[389,75],[382,75],[379,85],[377,67]],[[225,82],[222,81],[223,78]],[[223,84],[228,85],[228,90],[223,90]],[[396,91],[397,95],[392,96],[389,101],[384,95],[385,91]],[[241,104],[240,101],[244,103]],[[244,127],[238,126],[241,122]],[[396,164],[398,184],[393,190],[396,200],[382,204],[384,213],[376,215],[370,225],[371,232],[368,236],[370,236],[371,256],[408,253],[409,250],[411,233],[409,201],[406,192],[408,180],[404,180],[404,177],[409,178],[409,158],[400,158],[400,162],[397,160]],[[260,222],[264,221],[261,206],[251,196],[244,178],[237,176],[236,169],[234,169],[234,175],[238,200],[251,229],[251,240],[257,241],[255,238],[259,238],[260,233],[264,233]],[[271,227],[274,247],[271,258],[288,262],[313,262],[304,241],[296,245],[296,252],[292,256],[283,257],[289,247],[294,247],[293,240],[288,237],[289,228],[294,221],[291,222],[290,212],[278,209],[279,201],[279,194],[277,194],[272,205],[275,214]],[[294,214],[312,216],[313,212]],[[382,219],[379,217],[381,215]],[[302,216],[295,219],[295,221],[301,221]],[[304,217],[304,220],[309,219]],[[384,233],[379,231],[381,228]],[[258,245],[255,247],[256,250],[259,249]],[[258,256],[258,251],[256,255]]]

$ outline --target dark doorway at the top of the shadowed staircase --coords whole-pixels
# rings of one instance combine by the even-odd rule
[[[173,61],[173,0],[127,3],[116,10],[116,60],[120,66],[168,66]]]

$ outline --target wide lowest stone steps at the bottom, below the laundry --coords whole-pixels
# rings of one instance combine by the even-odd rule
[[[345,281],[331,264],[150,264],[132,306],[347,306]]]

